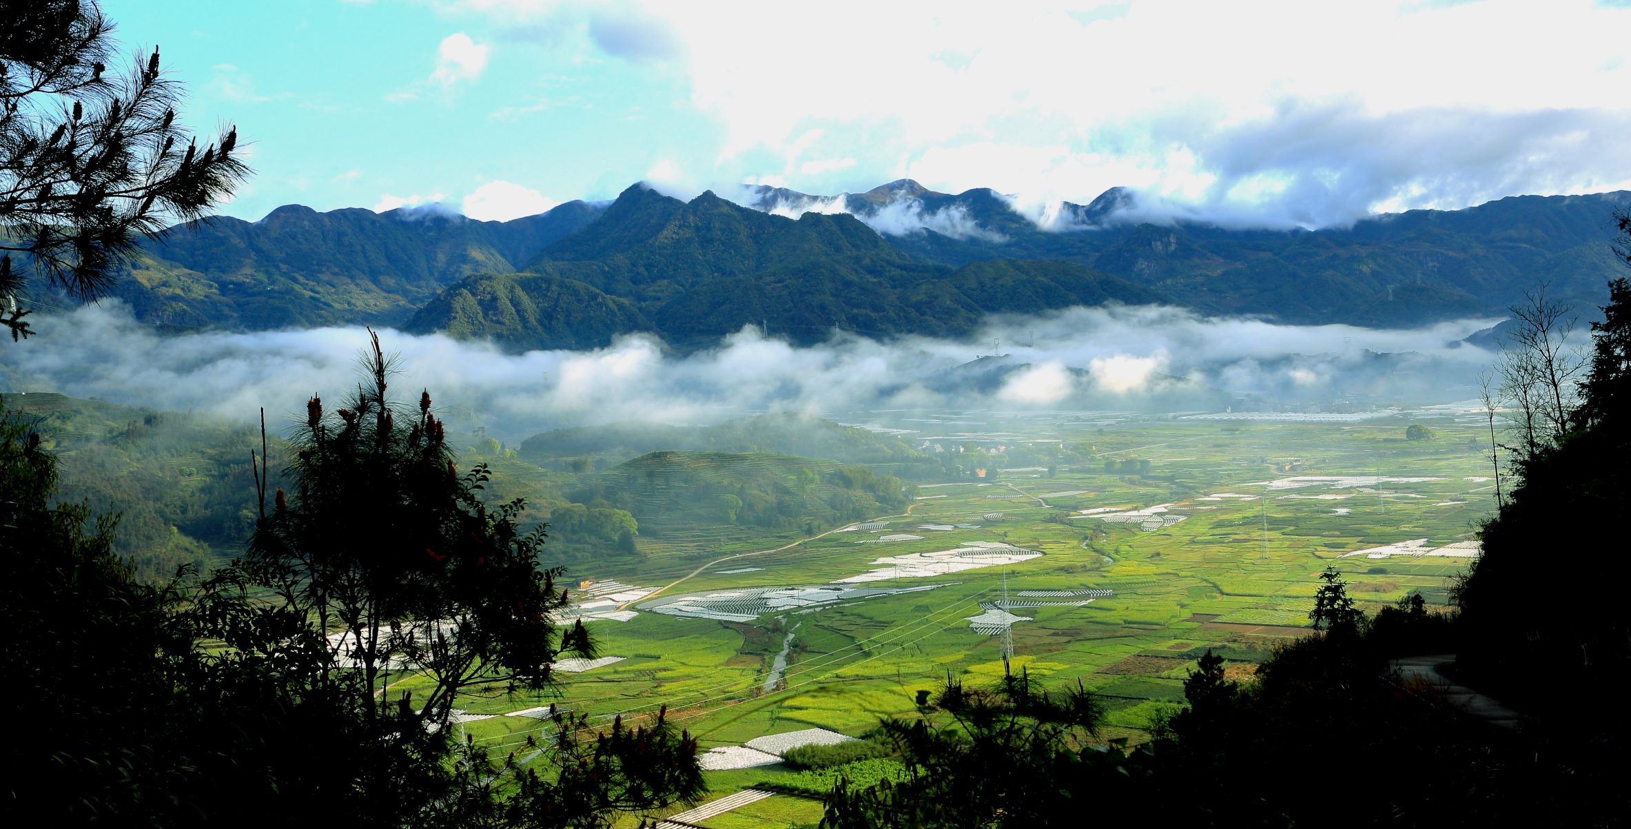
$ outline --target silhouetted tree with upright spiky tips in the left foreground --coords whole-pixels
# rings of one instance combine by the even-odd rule
[[[204,628],[261,666],[290,712],[267,751],[281,796],[352,826],[589,827],[701,793],[696,743],[662,716],[610,738],[561,720],[550,746],[504,760],[457,744],[460,694],[550,690],[551,663],[594,646],[581,622],[555,625],[569,592],[538,565],[543,527],[519,530],[524,503],[478,498],[486,467],[457,472],[429,393],[390,398],[377,336],[364,362],[344,406],[308,401],[292,494],[276,491],[201,601]],[[414,690],[393,692],[393,677]],[[323,734],[323,762],[305,734]]]

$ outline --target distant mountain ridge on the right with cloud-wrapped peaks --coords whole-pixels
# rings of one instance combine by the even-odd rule
[[[1138,207],[1137,196],[1122,188],[1088,206],[1059,204],[1049,217],[1054,230],[1039,228],[988,189],[953,196],[910,180],[842,196],[754,188],[747,201],[786,215],[842,204],[925,261],[1070,261],[1212,313],[1399,326],[1496,313],[1548,279],[1553,294],[1602,302],[1605,284],[1621,268],[1611,258],[1610,215],[1631,204],[1631,193],[1517,196],[1313,232],[1117,224],[1117,214],[1137,215]],[[1383,304],[1390,286],[1435,290]]]

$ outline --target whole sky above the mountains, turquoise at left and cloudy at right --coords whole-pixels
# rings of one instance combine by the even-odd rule
[[[251,220],[913,178],[1235,227],[1631,188],[1626,7],[103,2],[194,129],[236,124]]]

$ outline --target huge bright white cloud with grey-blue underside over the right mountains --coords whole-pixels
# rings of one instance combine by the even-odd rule
[[[692,162],[731,181],[910,176],[1037,217],[1129,186],[1135,220],[1272,227],[1631,186],[1623,3],[453,5],[672,62],[724,127]],[[820,70],[768,70],[757,42]]]

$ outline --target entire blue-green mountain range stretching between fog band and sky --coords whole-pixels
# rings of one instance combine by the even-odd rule
[[[1497,315],[1549,282],[1600,302],[1631,193],[1517,196],[1323,230],[1135,224],[1116,188],[1045,227],[992,189],[902,180],[861,194],[745,188],[690,202],[634,184],[511,222],[285,206],[148,243],[116,295],[170,328],[390,325],[504,348],[649,331],[703,348],[744,325],[819,341],[964,336],[988,313],[1165,302],[1284,323],[1414,326]]]

